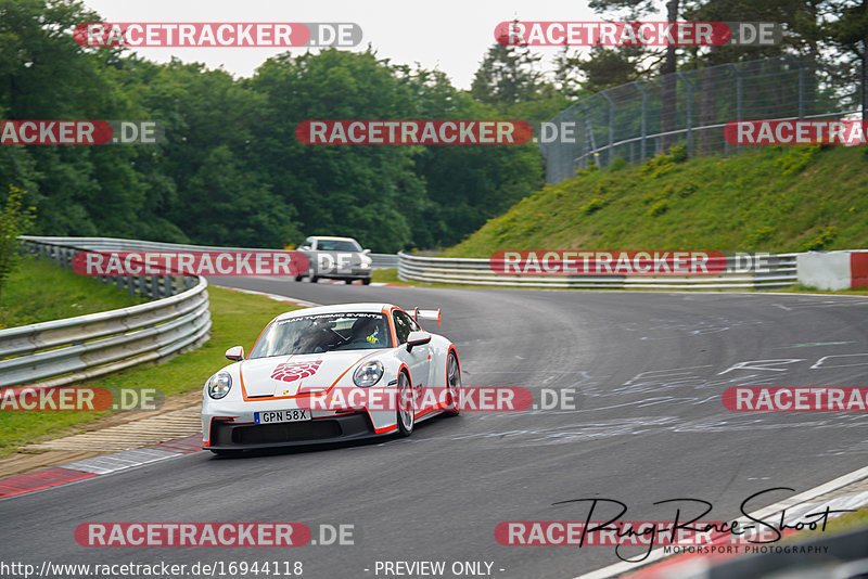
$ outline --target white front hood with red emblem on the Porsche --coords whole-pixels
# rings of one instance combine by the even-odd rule
[[[324,390],[360,361],[382,350],[344,350],[244,360],[239,364],[248,397],[295,396]]]

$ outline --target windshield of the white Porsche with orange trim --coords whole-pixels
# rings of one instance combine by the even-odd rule
[[[250,358],[391,347],[382,313],[317,313],[278,320],[268,326]]]

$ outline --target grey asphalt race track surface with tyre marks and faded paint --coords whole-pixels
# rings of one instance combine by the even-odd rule
[[[493,577],[569,579],[618,562],[614,548],[503,546],[497,524],[584,520],[587,503],[553,504],[583,498],[623,501],[628,520],[672,519],[656,501],[704,499],[704,519],[726,520],[755,492],[794,489],[754,510],[868,464],[864,413],[720,402],[738,385],[868,386],[868,298],[229,283],[319,304],[441,307],[442,327],[426,329],[456,343],[465,386],[523,386],[535,401],[574,388],[576,409],[437,417],[409,439],[349,447],[203,451],[12,498],[0,501],[2,559],[301,561],[310,578],[384,577],[378,561],[493,562]],[[354,525],[356,544],[100,549],[73,536],[85,522],[269,520],[304,523],[315,539],[319,524]]]

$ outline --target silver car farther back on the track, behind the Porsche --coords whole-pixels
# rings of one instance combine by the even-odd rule
[[[365,285],[371,283],[372,259],[368,256],[371,250],[362,249],[353,237],[311,236],[298,250],[307,256],[309,267],[306,275],[296,275],[296,282],[306,276],[312,283],[320,278],[346,283],[361,280]]]

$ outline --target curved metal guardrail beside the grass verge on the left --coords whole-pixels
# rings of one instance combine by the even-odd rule
[[[95,248],[71,245],[76,237],[22,237],[34,252],[67,267],[76,252]],[[60,240],[66,243],[60,243]],[[128,241],[128,240],[127,240]],[[117,246],[101,248],[119,249]],[[102,276],[127,284],[130,293],[155,298],[129,308],[90,313],[0,330],[0,386],[51,388],[156,362],[208,339],[207,282],[204,278]],[[122,279],[124,280],[122,282]],[[176,283],[178,280],[180,283]],[[177,292],[177,293],[176,293]]]

